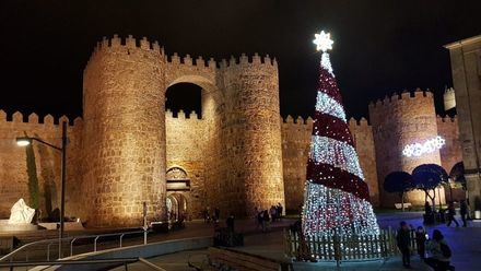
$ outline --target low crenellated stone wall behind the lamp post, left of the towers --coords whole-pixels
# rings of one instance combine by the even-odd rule
[[[39,122],[36,114],[27,119],[16,111],[8,116],[0,110],[0,219],[10,216],[10,209],[20,199],[32,205],[28,192],[28,176],[25,148],[16,145],[17,137],[34,137],[48,143],[61,146],[61,123],[67,117],[54,119],[47,115]],[[68,126],[69,144],[67,149],[67,185],[66,215],[77,216],[79,204],[79,148],[82,120],[77,118]],[[35,164],[38,177],[40,217],[51,215],[60,207],[61,154],[59,151],[42,143],[33,143]]]

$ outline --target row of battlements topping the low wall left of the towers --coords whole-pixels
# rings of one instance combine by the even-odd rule
[[[81,125],[82,118],[77,117],[72,122],[64,115],[58,119],[55,119],[54,116],[48,114],[43,118],[43,121],[40,122],[38,115],[35,113],[32,113],[27,116],[26,121],[25,121],[24,115],[20,111],[15,111],[9,116],[4,110],[0,109],[0,122],[56,126],[56,125],[61,123],[62,121],[67,121],[69,123],[69,126],[74,127],[74,126]]]

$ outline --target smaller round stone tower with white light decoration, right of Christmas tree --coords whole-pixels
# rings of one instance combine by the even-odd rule
[[[391,208],[394,203],[399,202],[399,199],[383,189],[384,178],[389,173],[395,170],[411,173],[421,164],[441,165],[439,151],[421,156],[402,155],[407,144],[424,142],[438,134],[433,94],[417,90],[413,94],[404,92],[400,95],[386,96],[383,101],[369,104],[369,119],[376,150],[380,202],[384,207]],[[442,201],[444,201],[444,191]],[[424,193],[419,190],[409,192],[407,202],[422,205]]]

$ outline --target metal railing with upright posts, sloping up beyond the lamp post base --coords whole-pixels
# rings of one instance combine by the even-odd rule
[[[25,252],[25,261],[28,261],[30,249],[32,249],[34,247],[38,247],[38,246],[46,246],[46,249],[47,249],[46,250],[46,254],[47,254],[46,260],[49,261],[50,260],[50,247],[56,244],[59,245],[59,241],[61,243],[61,246],[63,246],[64,243],[66,244],[70,243],[70,256],[74,255],[73,245],[77,240],[80,240],[80,239],[93,239],[94,240],[93,250],[82,251],[82,254],[98,251],[98,246],[97,246],[97,244],[99,243],[98,240],[101,238],[113,237],[113,236],[118,236],[118,240],[116,238],[115,241],[119,245],[115,246],[115,247],[121,248],[124,245],[122,240],[126,235],[143,234],[145,236],[149,232],[146,229],[143,229],[143,231],[136,231],[136,232],[121,232],[121,233],[113,233],[113,234],[70,236],[70,237],[63,237],[61,239],[56,238],[56,239],[45,239],[45,240],[32,241],[32,243],[28,243],[28,244],[25,244],[25,245],[19,247],[17,249],[13,250],[12,252],[10,252],[8,255],[1,257],[0,263],[3,261],[8,261],[8,260],[13,261],[15,256],[20,255],[21,252]],[[109,239],[109,241],[113,241],[113,240]],[[143,238],[143,244],[146,245],[146,238]],[[113,247],[110,247],[110,248],[113,248]]]

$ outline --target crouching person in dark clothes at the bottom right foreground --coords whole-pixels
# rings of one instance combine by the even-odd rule
[[[433,238],[427,240],[426,250],[431,257],[424,259],[424,262],[434,271],[454,270],[449,264],[453,252],[438,229],[434,229]]]

